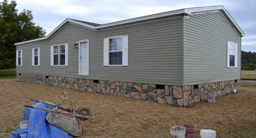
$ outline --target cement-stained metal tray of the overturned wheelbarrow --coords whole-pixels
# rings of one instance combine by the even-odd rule
[[[63,109],[59,109],[58,111],[69,113],[68,111],[65,111]],[[46,120],[49,123],[51,123],[51,124],[57,126],[58,128],[68,132],[71,135],[81,136],[81,135],[84,134],[84,130],[80,126],[77,117],[66,116],[66,115],[63,115],[63,114],[49,112],[46,116]]]

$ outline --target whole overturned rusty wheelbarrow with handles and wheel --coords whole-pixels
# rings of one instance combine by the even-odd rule
[[[43,102],[35,99],[30,99],[30,100],[43,103],[46,105],[54,106],[55,108],[53,109],[47,109],[47,108],[39,108],[39,107],[25,105],[25,107],[28,107],[28,108],[34,108],[34,109],[39,109],[39,110],[49,112],[46,115],[46,120],[49,123],[57,126],[58,128],[74,136],[81,136],[84,134],[84,130],[80,126],[78,119],[80,120],[94,119],[94,114],[92,114],[91,110],[85,106],[82,106],[77,110],[75,110],[72,106],[71,96],[65,91],[63,91],[63,96],[61,96],[61,102],[59,104],[52,104],[52,103]],[[65,100],[69,101],[70,108],[62,107],[62,104]]]

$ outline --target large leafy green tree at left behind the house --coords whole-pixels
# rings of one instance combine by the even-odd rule
[[[44,37],[46,31],[32,22],[32,11],[15,9],[12,0],[0,2],[0,69],[15,68],[16,46],[14,43]]]

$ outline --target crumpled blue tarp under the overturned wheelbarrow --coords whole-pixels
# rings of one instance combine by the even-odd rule
[[[36,103],[32,106],[52,109],[53,106],[49,106],[42,103]],[[46,115],[48,112],[26,108],[24,114],[21,118],[23,120],[29,120],[28,128],[21,129],[18,127],[17,130],[12,132],[12,136],[10,138],[72,138],[73,135],[68,134],[64,130],[59,129],[53,124],[50,124],[46,120]]]

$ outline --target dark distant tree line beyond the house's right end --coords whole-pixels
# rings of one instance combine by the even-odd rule
[[[256,52],[241,52],[241,70],[255,70],[256,69]]]

